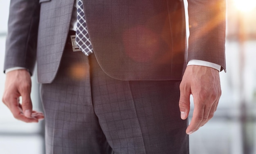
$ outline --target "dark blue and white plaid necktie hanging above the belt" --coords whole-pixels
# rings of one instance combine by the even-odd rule
[[[76,45],[82,52],[89,56],[92,54],[92,44],[89,39],[89,34],[85,22],[85,14],[83,11],[83,1],[78,0],[77,6],[77,28],[76,28]]]

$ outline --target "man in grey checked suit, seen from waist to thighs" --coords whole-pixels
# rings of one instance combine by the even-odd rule
[[[78,3],[12,0],[4,104],[25,122],[45,115],[47,154],[188,154],[221,95],[225,0],[188,2],[187,50],[182,0],[83,0],[86,56],[72,51]],[[30,100],[35,62],[44,115]]]

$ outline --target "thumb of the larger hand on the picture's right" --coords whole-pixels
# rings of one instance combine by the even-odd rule
[[[182,85],[180,86],[180,118],[186,119],[189,116],[190,110],[190,87],[184,88]]]

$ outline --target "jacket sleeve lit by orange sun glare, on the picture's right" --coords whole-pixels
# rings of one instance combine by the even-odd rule
[[[225,0],[188,0],[188,61],[209,61],[226,71],[225,63]]]

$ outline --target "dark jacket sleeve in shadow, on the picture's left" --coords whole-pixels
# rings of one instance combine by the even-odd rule
[[[39,13],[38,0],[11,0],[4,72],[11,67],[25,67],[32,75],[36,62]]]

